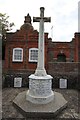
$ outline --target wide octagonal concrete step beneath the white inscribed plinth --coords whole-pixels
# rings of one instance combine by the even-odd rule
[[[53,118],[67,106],[67,101],[58,92],[54,92],[54,100],[43,105],[27,101],[26,91],[19,93],[13,103],[26,118]]]

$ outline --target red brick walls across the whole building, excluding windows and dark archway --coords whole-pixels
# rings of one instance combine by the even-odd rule
[[[52,40],[48,38],[48,33],[45,33],[45,68],[49,68],[48,63],[50,61],[57,61],[57,55],[59,53],[65,54],[67,62],[71,61],[71,57],[73,58],[74,62],[78,62],[80,48],[78,44],[80,39],[79,36],[80,35],[78,33],[75,33],[72,42],[52,42]],[[38,48],[38,37],[38,31],[33,29],[20,29],[15,33],[7,33],[4,68],[7,70],[35,70],[37,67],[37,63],[29,62],[29,49]],[[18,63],[12,61],[13,48],[16,47],[23,48],[23,62]],[[73,54],[71,53],[71,51],[73,52]]]

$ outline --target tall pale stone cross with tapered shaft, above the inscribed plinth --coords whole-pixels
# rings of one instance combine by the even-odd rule
[[[33,22],[39,23],[38,63],[35,71],[36,76],[46,76],[44,68],[44,22],[51,22],[51,17],[44,17],[44,7],[40,8],[40,17],[33,17]]]

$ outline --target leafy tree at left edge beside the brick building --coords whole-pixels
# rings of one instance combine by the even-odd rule
[[[9,16],[0,13],[0,34],[2,35],[2,59],[5,56],[6,32],[12,30],[14,23],[8,21]]]

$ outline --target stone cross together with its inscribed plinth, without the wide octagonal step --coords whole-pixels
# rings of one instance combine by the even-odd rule
[[[54,99],[52,76],[47,75],[44,67],[44,22],[50,21],[50,17],[44,17],[44,7],[40,8],[40,17],[33,17],[33,22],[39,22],[38,63],[35,73],[29,76],[26,100],[35,104],[46,104]]]

